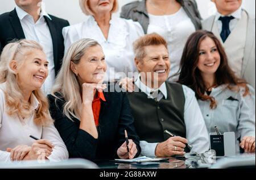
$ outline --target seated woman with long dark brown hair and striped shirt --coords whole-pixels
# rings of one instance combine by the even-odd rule
[[[180,62],[179,83],[196,93],[209,132],[235,132],[236,148],[255,152],[255,91],[229,68],[224,48],[208,31],[193,33]]]

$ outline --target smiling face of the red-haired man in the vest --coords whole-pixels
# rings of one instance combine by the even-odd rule
[[[170,72],[168,50],[164,45],[149,45],[144,47],[144,51],[146,56],[142,60],[135,60],[137,69],[145,82],[151,81],[151,87],[155,87],[155,82],[158,82],[160,87],[167,80]]]

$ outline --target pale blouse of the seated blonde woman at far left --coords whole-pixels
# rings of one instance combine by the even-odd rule
[[[15,148],[17,145],[31,146],[35,141],[30,135],[39,139],[47,139],[55,145],[52,154],[47,157],[50,161],[61,161],[68,158],[68,150],[61,139],[59,132],[52,124],[42,127],[34,123],[34,114],[30,118],[19,118],[18,115],[7,114],[5,104],[6,83],[0,84],[0,162],[9,162],[10,153],[6,148]],[[31,95],[31,108],[38,108],[39,102],[35,95]]]

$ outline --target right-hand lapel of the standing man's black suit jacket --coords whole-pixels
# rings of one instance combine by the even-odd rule
[[[56,28],[55,28],[52,20],[47,18],[47,16],[44,16],[44,19],[46,19],[46,23],[49,27],[49,31],[51,32],[52,46],[53,46],[53,60],[54,60],[54,65],[56,67],[57,63],[58,63],[58,59],[57,59],[58,58],[58,55],[57,55],[57,45],[58,45],[57,32],[56,32]]]

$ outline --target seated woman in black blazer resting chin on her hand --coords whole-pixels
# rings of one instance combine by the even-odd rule
[[[68,49],[48,95],[49,110],[71,158],[133,158],[141,153],[126,94],[103,92],[106,68],[101,45],[81,39]],[[108,90],[114,90],[113,85]]]

